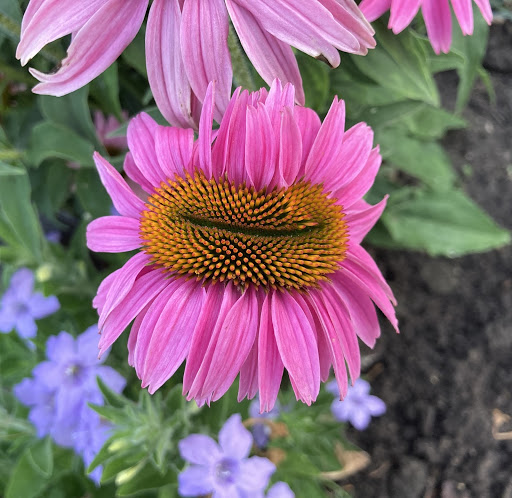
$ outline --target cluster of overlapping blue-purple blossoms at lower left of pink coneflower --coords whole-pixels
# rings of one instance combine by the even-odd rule
[[[74,339],[67,332],[46,343],[48,360],[39,363],[31,378],[14,386],[14,394],[30,407],[29,420],[37,435],[49,434],[61,446],[73,448],[88,465],[108,438],[110,426],[88,403],[102,404],[97,377],[121,392],[125,379],[98,359],[98,327],[93,325]],[[92,476],[99,479],[101,470]]]

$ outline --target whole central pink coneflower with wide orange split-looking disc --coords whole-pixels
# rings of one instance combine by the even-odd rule
[[[94,299],[100,354],[134,320],[128,361],[155,392],[186,359],[183,390],[219,399],[240,373],[239,398],[276,400],[286,368],[310,404],[331,365],[340,393],[359,377],[357,337],[380,334],[375,303],[397,328],[393,294],[360,246],[386,199],[363,195],[381,164],[364,123],[344,131],[345,104],[323,122],[294,105],[295,90],[238,89],[212,131],[214,85],[198,139],[140,114],[128,128],[126,174],[143,203],[99,154],[94,159],[122,216],[94,220],[98,252],[137,250]],[[372,302],[373,301],[373,302]]]

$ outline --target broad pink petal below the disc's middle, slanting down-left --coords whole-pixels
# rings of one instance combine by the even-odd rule
[[[259,307],[256,290],[248,287],[231,306],[222,327],[216,327],[210,345],[210,357],[200,396],[218,400],[231,386],[247,359],[258,332]]]

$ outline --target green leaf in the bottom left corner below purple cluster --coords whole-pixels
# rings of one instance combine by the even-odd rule
[[[23,452],[7,483],[5,498],[39,496],[49,483],[52,472],[52,445],[45,438]]]

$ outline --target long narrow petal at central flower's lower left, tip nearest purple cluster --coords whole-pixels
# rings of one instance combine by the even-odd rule
[[[150,271],[135,281],[130,292],[110,313],[101,329],[100,355],[117,340],[130,322],[169,283],[169,279],[165,277],[160,269]]]

